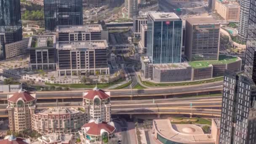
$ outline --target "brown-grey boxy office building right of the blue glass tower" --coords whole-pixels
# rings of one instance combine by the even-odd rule
[[[220,24],[213,18],[186,20],[185,55],[189,61],[219,59]]]

